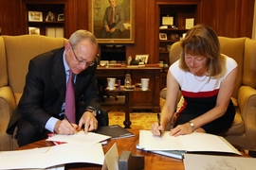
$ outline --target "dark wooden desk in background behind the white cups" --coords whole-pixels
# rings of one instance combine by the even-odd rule
[[[160,111],[160,67],[101,67],[98,66],[96,75],[101,81],[107,82],[107,77],[116,77],[121,79],[121,84],[124,84],[126,74],[130,74],[132,84],[140,83],[140,78],[150,78],[149,89],[151,92],[131,93],[129,97],[130,110],[152,110],[153,112]]]

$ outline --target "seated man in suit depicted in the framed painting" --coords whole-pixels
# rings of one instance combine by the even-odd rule
[[[116,38],[119,31],[123,31],[124,12],[120,6],[117,6],[117,0],[109,0],[110,6],[106,8],[103,18],[103,30],[101,37],[103,39]]]

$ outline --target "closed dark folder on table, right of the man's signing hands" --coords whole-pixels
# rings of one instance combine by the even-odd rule
[[[120,127],[119,125],[98,127],[97,130],[95,130],[95,132],[100,133],[102,135],[111,136],[111,139],[128,138],[135,136],[134,133],[130,132],[129,130],[123,127]]]

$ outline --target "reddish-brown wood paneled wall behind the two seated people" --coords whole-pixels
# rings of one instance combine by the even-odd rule
[[[64,1],[65,37],[77,29],[88,28],[89,0],[38,0]],[[136,39],[127,44],[126,56],[149,54],[149,63],[157,63],[159,4],[196,4],[197,24],[211,26],[218,35],[226,37],[249,37],[252,35],[254,0],[135,0]],[[2,35],[22,35],[26,33],[23,0],[1,0]]]

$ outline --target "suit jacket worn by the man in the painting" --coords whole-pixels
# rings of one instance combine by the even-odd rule
[[[108,21],[109,21],[109,18],[110,18],[110,13],[111,13],[111,7],[109,6],[105,10],[105,14],[104,14],[104,18],[103,18],[103,26],[109,26]],[[120,6],[116,6],[114,17],[115,17],[116,27],[120,31],[123,31],[123,29],[124,29],[124,26],[123,26],[124,12],[123,12],[123,9]]]

